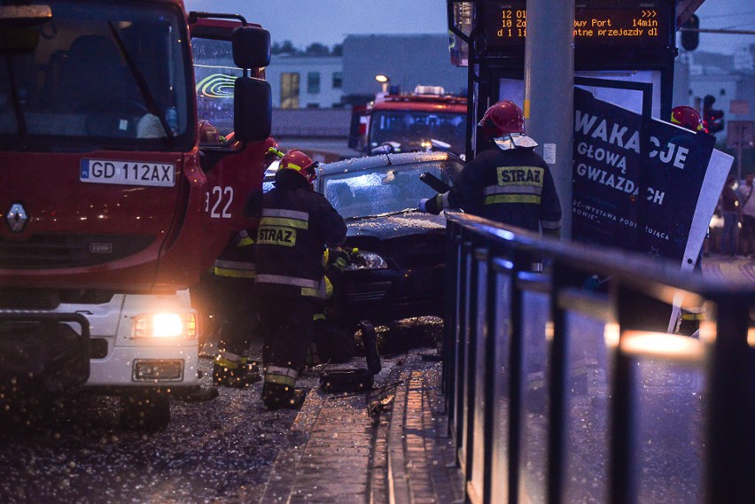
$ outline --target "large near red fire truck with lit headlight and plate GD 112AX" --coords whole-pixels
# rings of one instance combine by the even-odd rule
[[[0,53],[0,401],[119,395],[163,427],[198,386],[188,288],[261,188],[269,33],[180,0],[11,1]]]

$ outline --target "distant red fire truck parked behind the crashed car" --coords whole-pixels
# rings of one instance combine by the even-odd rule
[[[467,99],[440,86],[416,86],[413,93],[388,92],[354,107],[349,147],[375,152],[450,151],[466,148]]]

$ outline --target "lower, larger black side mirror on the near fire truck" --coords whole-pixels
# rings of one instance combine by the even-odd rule
[[[241,142],[262,142],[267,139],[273,122],[270,83],[253,77],[238,77],[233,94],[236,139]]]

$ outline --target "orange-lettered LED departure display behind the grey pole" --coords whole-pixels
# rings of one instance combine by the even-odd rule
[[[580,4],[574,10],[576,47],[668,47],[673,45],[672,10],[664,2]],[[525,2],[486,4],[486,45],[525,44]]]

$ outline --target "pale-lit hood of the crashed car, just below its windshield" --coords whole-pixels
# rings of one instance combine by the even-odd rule
[[[446,218],[432,213],[393,213],[346,221],[346,236],[374,236],[385,240],[446,229]]]

